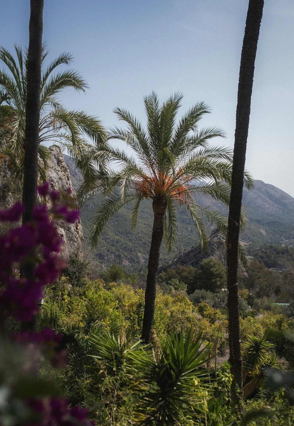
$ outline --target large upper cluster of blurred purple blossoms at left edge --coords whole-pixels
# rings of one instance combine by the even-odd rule
[[[64,260],[57,255],[62,249],[63,239],[50,216],[63,218],[69,223],[76,222],[79,217],[77,210],[60,204],[59,193],[51,189],[48,182],[40,185],[38,192],[51,198],[51,207],[46,204],[35,206],[31,222],[0,236],[0,285],[4,286],[0,292],[0,309],[2,307],[6,316],[12,315],[22,321],[30,320],[37,313],[36,301],[42,296],[43,286],[54,282],[66,267]],[[0,211],[0,220],[19,220],[22,212],[22,205],[16,203],[8,210]],[[42,253],[42,257],[35,259],[34,279],[12,278],[14,265],[24,264],[37,251]]]

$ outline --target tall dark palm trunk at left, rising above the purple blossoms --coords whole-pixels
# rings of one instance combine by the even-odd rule
[[[23,224],[31,220],[34,204],[37,203],[43,6],[44,0],[31,0],[23,165]],[[34,268],[34,262],[26,262],[21,268],[22,276],[32,279]]]

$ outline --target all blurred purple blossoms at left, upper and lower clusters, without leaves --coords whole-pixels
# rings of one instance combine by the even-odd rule
[[[29,321],[37,314],[37,299],[42,297],[43,286],[54,282],[65,261],[58,255],[63,240],[60,238],[51,217],[64,219],[69,223],[77,222],[79,212],[61,204],[60,194],[51,189],[50,184],[38,187],[42,197],[51,199],[51,207],[46,204],[34,207],[32,221],[13,228],[0,236],[0,320],[12,316],[20,321]],[[71,190],[66,191],[67,199]],[[23,206],[14,204],[8,210],[0,210],[0,221],[16,222],[20,220]],[[17,263],[31,262],[33,256],[36,268],[34,278],[26,279],[13,275]],[[28,359],[23,362],[21,374],[36,376],[37,368],[45,355],[55,368],[67,363],[67,350],[61,345],[62,336],[46,328],[41,332],[27,331],[12,336],[12,340],[24,346],[23,353]],[[22,401],[31,410],[31,417],[22,422],[26,426],[92,426],[86,409],[68,407],[65,397],[25,398]]]

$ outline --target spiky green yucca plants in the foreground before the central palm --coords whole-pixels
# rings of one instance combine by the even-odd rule
[[[71,362],[71,358],[76,358],[71,354],[67,382],[78,371],[82,373],[86,383],[78,381],[79,392],[86,405],[97,407],[94,418],[98,424],[229,426],[234,423],[229,400],[224,394],[214,397],[216,384],[203,368],[208,351],[199,338],[192,338],[191,331],[186,336],[183,332],[172,333],[160,341],[156,351],[142,346],[140,340],[134,341],[130,334],[114,335],[101,330],[87,340],[78,341],[83,354],[89,351],[88,374],[76,361]],[[227,385],[222,386],[225,389]],[[72,389],[68,386],[71,400],[75,398],[71,394],[74,389],[76,386]]]

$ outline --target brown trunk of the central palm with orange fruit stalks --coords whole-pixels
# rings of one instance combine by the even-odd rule
[[[160,245],[163,239],[163,224],[164,215],[166,212],[166,200],[154,199],[152,203],[152,208],[154,212],[154,222],[148,259],[148,274],[145,291],[145,308],[142,327],[142,340],[146,344],[150,343],[154,319],[156,275],[159,267]]]

